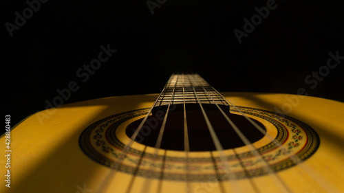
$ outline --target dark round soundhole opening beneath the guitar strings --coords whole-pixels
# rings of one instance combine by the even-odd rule
[[[224,149],[237,148],[245,146],[241,141],[235,130],[230,126],[224,115],[215,108],[214,104],[204,104],[204,110],[208,116],[215,133],[222,144]],[[227,108],[227,109],[226,109]],[[148,117],[147,122],[142,126],[140,133],[136,137],[135,141],[140,144],[155,147],[160,128],[166,113],[166,106],[162,106],[159,109],[154,109],[151,116]],[[182,105],[175,105],[169,111],[166,126],[164,128],[164,134],[162,137],[162,143],[160,148],[166,150],[184,150],[184,111]],[[213,139],[209,132],[209,129],[204,120],[204,115],[197,104],[186,104],[186,122],[189,135],[189,146],[191,151],[211,151],[216,150]],[[261,133],[255,126],[253,126],[244,116],[235,115],[229,112],[228,107],[224,107],[224,110],[230,120],[241,130],[248,140],[253,143],[263,138],[266,133],[266,128],[260,122],[254,120],[261,128],[264,128],[265,132]],[[143,119],[143,118],[142,118]],[[138,128],[142,119],[137,120],[129,124],[126,129],[127,136],[131,137],[135,130]]]

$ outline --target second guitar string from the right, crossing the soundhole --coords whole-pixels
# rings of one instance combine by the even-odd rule
[[[202,88],[204,89],[204,87],[202,87]],[[204,92],[206,92],[207,95],[211,98],[211,100],[214,102],[215,106],[217,106],[217,109],[219,109],[219,111],[226,118],[226,120],[230,124],[230,126],[233,127],[233,129],[235,130],[235,133],[237,133],[237,135],[239,136],[241,141],[243,141],[244,144],[250,149],[252,154],[255,157],[257,157],[258,159],[261,159],[261,161],[262,161],[261,163],[263,163],[264,168],[266,168],[268,174],[272,175],[272,179],[275,181],[275,184],[277,184],[277,186],[279,186],[279,189],[282,190],[282,192],[291,192],[289,190],[288,186],[285,183],[283,183],[283,181],[279,178],[279,176],[276,174],[276,172],[274,172],[272,170],[271,166],[266,162],[266,160],[263,158],[263,156],[257,151],[257,148],[255,148],[255,146],[253,146],[253,144],[247,139],[247,137],[244,135],[244,133],[242,133],[241,130],[234,124],[234,122],[232,120],[230,120],[228,115],[226,115],[226,113],[224,113],[224,111],[219,107],[219,105],[215,103],[215,100],[208,93],[208,91],[206,91],[206,89],[204,89]]]

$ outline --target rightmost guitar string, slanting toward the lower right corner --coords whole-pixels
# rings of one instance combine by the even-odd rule
[[[213,88],[213,87],[212,87]],[[214,89],[214,88],[213,88]],[[237,110],[241,115],[243,115],[246,120],[248,120],[253,126],[255,126],[255,128],[257,128],[262,134],[265,134],[265,131],[263,128],[261,128],[261,126],[259,126],[257,123],[253,122],[252,119],[250,117],[248,117],[245,113],[243,113],[240,109],[237,108],[237,106],[235,106],[232,102],[230,102],[228,99],[226,99],[224,97],[224,95],[222,95],[221,93],[219,93],[219,91],[217,91],[216,89],[214,89],[214,91],[216,93],[218,93],[219,95],[221,95],[221,97],[226,100],[226,102],[228,104],[230,104],[231,106],[233,106],[235,108],[235,110]],[[277,147],[277,148],[281,148],[282,144],[277,141],[276,139],[274,139],[269,133],[266,133],[266,137],[268,137],[268,139],[270,141],[272,141],[272,143]],[[296,164],[296,166],[300,167],[302,170],[304,170],[312,179],[314,179],[314,181],[316,181],[316,183],[318,183],[324,190],[326,190],[326,192],[341,192],[340,190],[338,190],[338,188],[336,188],[334,185],[332,185],[332,183],[330,183],[329,181],[323,179],[323,177],[321,177],[317,172],[314,171],[313,168],[310,168],[310,166],[308,166],[306,163],[304,163],[301,159],[299,159],[299,157],[297,157],[296,155],[287,155],[287,157],[289,157],[290,159],[292,159],[292,161],[294,161],[294,163]]]

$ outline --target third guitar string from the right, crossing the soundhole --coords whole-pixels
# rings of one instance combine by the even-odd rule
[[[190,78],[189,78],[189,80],[190,80]],[[217,138],[217,135],[216,135],[216,133],[214,131],[214,128],[213,128],[211,122],[209,121],[208,116],[206,115],[206,112],[204,111],[204,108],[202,106],[202,103],[200,102],[200,99],[199,99],[199,97],[197,95],[197,92],[195,91],[195,87],[193,86],[192,81],[190,81],[190,82],[191,82],[191,85],[192,85],[192,88],[193,88],[193,93],[195,95],[196,101],[200,105],[200,109],[201,109],[202,114],[204,116],[204,120],[206,121],[206,125],[208,127],[208,130],[211,133],[211,138],[213,139],[214,146],[215,146],[217,152],[219,153],[219,156],[220,156],[220,159],[221,159],[222,163],[224,164],[224,171],[226,172],[226,175],[228,176],[228,178],[232,182],[235,181],[235,183],[237,183],[235,174],[233,172],[233,169],[228,165],[226,157],[224,155],[224,148],[222,147],[221,143],[219,142],[219,139]],[[221,183],[221,182],[219,181],[219,183]],[[230,188],[232,188],[233,192],[242,192],[238,188],[237,185],[231,185]]]

